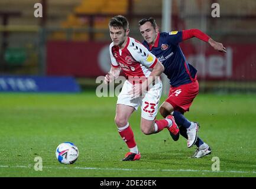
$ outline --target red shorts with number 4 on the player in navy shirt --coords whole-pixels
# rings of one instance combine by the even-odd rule
[[[193,100],[199,92],[199,84],[197,80],[192,83],[182,84],[179,87],[170,87],[168,98],[166,102],[170,103],[174,110],[180,112],[189,111]]]

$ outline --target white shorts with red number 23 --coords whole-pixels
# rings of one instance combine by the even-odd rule
[[[159,80],[153,87],[150,87],[144,97],[132,99],[131,94],[128,94],[132,90],[132,84],[126,80],[121,93],[118,95],[116,104],[132,106],[135,110],[138,110],[141,105],[141,117],[147,120],[154,120],[155,116],[157,116],[162,88],[162,82]]]

